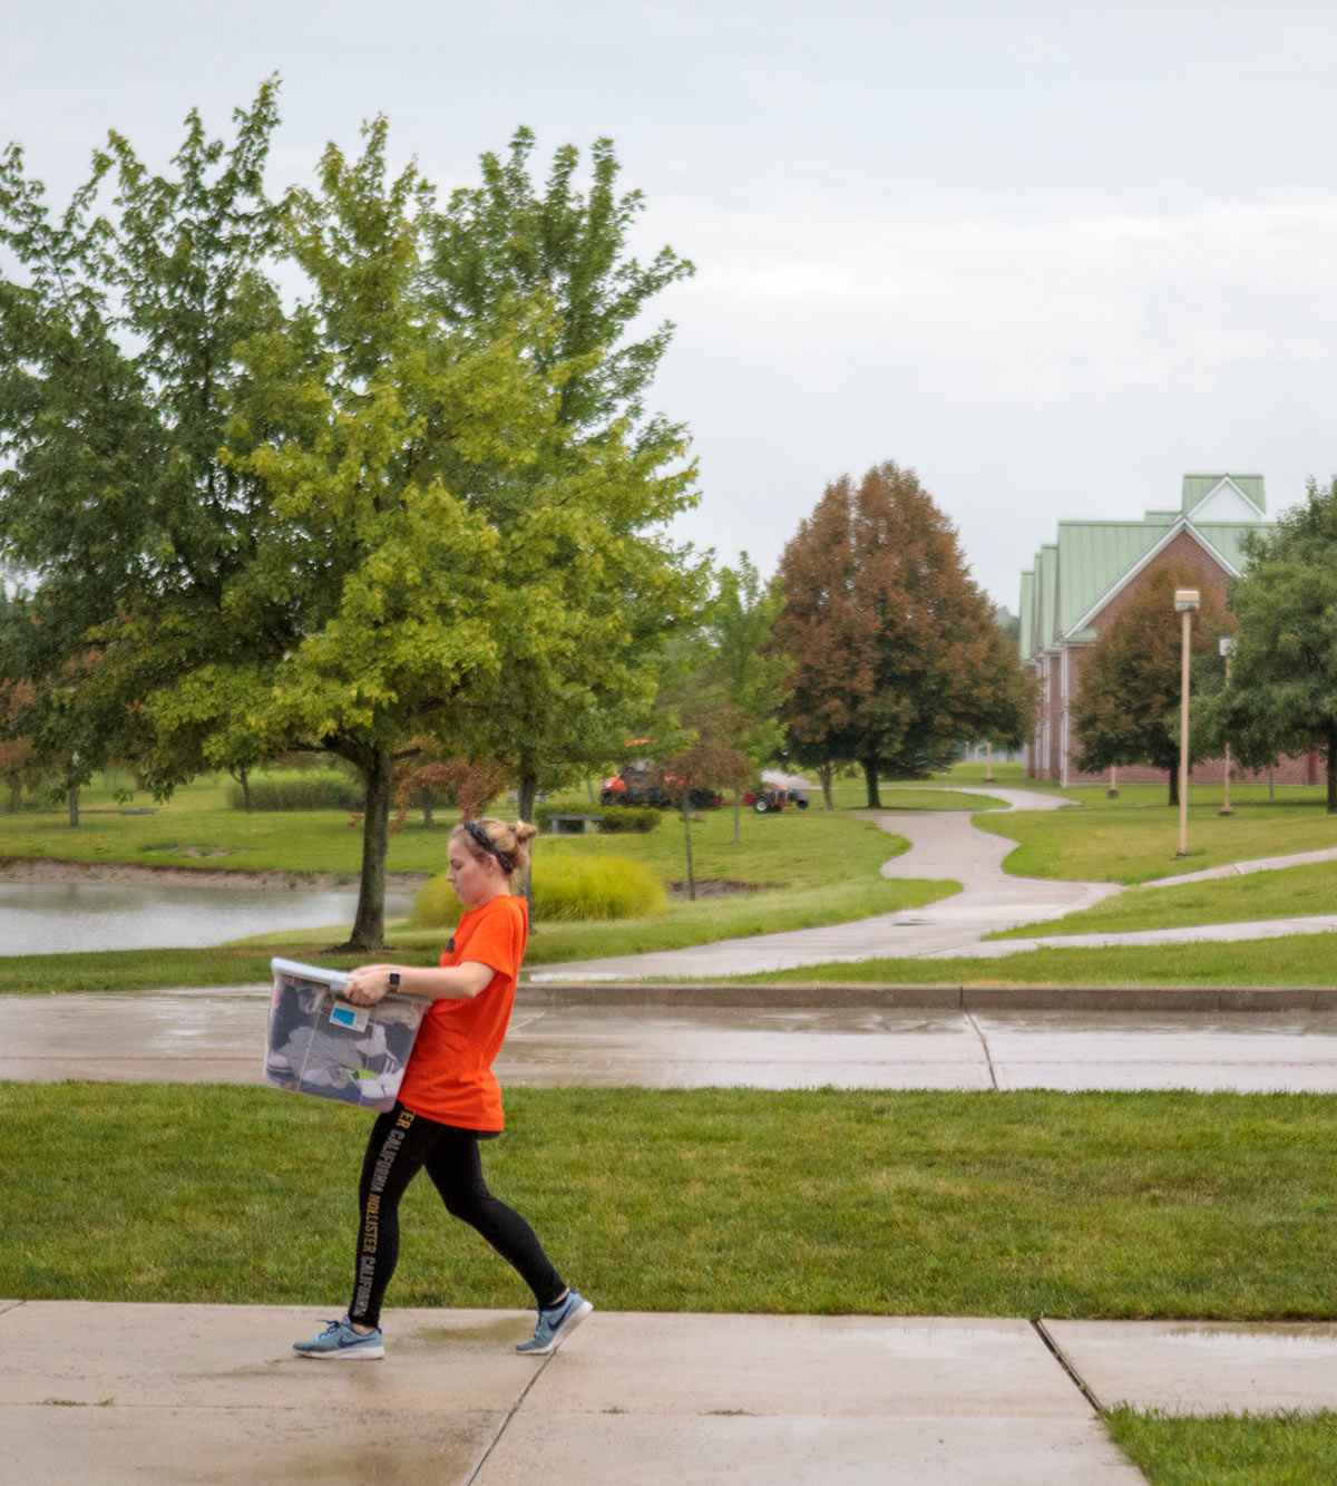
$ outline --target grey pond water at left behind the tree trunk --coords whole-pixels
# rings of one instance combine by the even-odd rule
[[[385,895],[385,917],[411,899]],[[348,926],[357,889],[172,887],[143,883],[0,883],[0,954],[198,950],[287,929]]]

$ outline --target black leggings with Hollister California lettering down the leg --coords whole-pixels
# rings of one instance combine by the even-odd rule
[[[400,1198],[423,1167],[446,1211],[475,1227],[520,1272],[541,1306],[556,1305],[566,1285],[533,1229],[487,1190],[478,1135],[455,1125],[438,1125],[395,1104],[371,1126],[362,1161],[349,1318],[364,1326],[380,1323],[385,1287],[400,1259]]]

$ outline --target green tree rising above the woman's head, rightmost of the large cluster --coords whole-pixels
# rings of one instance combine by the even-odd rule
[[[526,355],[550,374],[556,413],[532,461],[480,495],[505,542],[517,605],[492,697],[447,710],[450,749],[502,758],[532,819],[557,788],[615,756],[655,692],[667,633],[701,600],[706,569],[664,535],[694,504],[686,432],[646,416],[645,398],[673,325],[639,325],[649,302],[692,273],[670,248],[642,265],[628,236],[639,192],[618,192],[612,141],[597,140],[590,183],[579,152],[559,149],[536,184],[533,134],[484,155],[481,183],[432,218],[432,303],[478,334],[515,321]]]

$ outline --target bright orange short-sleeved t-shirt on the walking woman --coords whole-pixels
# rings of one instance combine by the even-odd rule
[[[461,1129],[502,1129],[501,1086],[492,1060],[511,1024],[527,938],[529,905],[523,898],[502,893],[465,909],[441,964],[474,960],[496,973],[477,996],[437,1000],[428,1008],[400,1085],[404,1109]]]

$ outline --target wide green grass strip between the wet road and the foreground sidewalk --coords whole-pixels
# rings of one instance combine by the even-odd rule
[[[493,1189],[609,1309],[1337,1317],[1333,1097],[557,1089],[507,1109]],[[273,1089],[0,1085],[22,1193],[4,1293],[337,1303],[368,1123]],[[426,1181],[391,1299],[527,1303]]]

